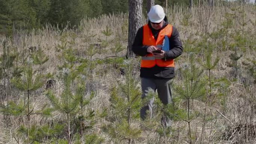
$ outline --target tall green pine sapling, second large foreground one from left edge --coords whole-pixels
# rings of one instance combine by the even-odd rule
[[[71,50],[71,49],[67,49]],[[67,137],[68,137],[68,143],[71,143],[71,116],[75,116],[78,112],[81,112],[80,116],[80,124],[83,125],[83,107],[88,104],[88,99],[83,99],[83,94],[85,90],[85,84],[80,83],[76,86],[76,90],[72,90],[72,85],[76,81],[78,74],[83,74],[84,69],[86,67],[86,64],[82,63],[80,65],[74,65],[74,61],[76,61],[78,58],[69,51],[70,55],[67,53],[64,54],[65,62],[64,65],[61,66],[62,73],[61,73],[61,79],[64,83],[64,90],[61,94],[60,100],[57,98],[54,93],[49,90],[47,93],[48,98],[51,101],[52,106],[54,107],[54,110],[60,111],[61,113],[64,113],[66,115],[67,119]],[[78,109],[78,105],[80,105],[81,110]],[[93,114],[93,113],[91,113]],[[83,126],[80,127],[81,130]],[[83,134],[83,132],[81,132]],[[82,137],[82,135],[81,135]]]

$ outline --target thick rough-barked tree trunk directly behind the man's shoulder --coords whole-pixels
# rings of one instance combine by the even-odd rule
[[[137,30],[142,26],[142,0],[129,0],[129,27],[127,58],[134,57],[132,43],[134,42]]]

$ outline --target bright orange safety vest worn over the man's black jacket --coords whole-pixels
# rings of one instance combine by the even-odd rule
[[[155,40],[152,31],[149,28],[149,25],[146,24],[143,26],[143,45],[148,46],[157,46],[162,45],[164,41],[164,36],[167,35],[169,38],[171,37],[171,33],[173,31],[173,26],[168,24],[165,28],[163,28],[159,34],[157,40]],[[174,67],[174,60],[168,59],[156,59],[152,53],[148,53],[145,56],[142,56],[141,58],[141,67],[144,68],[152,68],[155,65],[158,65],[159,67]]]

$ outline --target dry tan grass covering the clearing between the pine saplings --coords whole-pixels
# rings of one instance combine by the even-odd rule
[[[237,10],[232,11],[232,8]],[[246,15],[243,17],[243,13],[239,11],[244,10]],[[237,81],[232,81],[234,76],[232,74],[232,67],[228,67],[228,62],[230,61],[229,55],[232,53],[230,48],[220,48],[221,39],[217,39],[217,42],[213,39],[210,39],[207,34],[219,31],[225,22],[224,14],[225,13],[235,13],[237,16],[234,19],[234,23],[229,28],[227,35],[229,43],[234,43],[235,40],[232,37],[235,30],[241,29],[241,22],[247,22],[244,26],[244,37],[246,37],[247,45],[242,49],[238,49],[238,52],[243,56],[238,60],[239,77]],[[212,59],[215,59],[217,56],[220,58],[219,63],[217,64],[216,69],[212,70],[211,74],[214,79],[225,77],[230,82],[231,85],[227,86],[225,89],[222,87],[216,87],[213,89],[215,103],[212,105],[213,109],[213,124],[211,121],[205,122],[205,129],[202,131],[202,117],[192,121],[192,143],[201,144],[201,143],[211,143],[211,144],[253,144],[256,143],[256,123],[255,123],[255,98],[256,98],[256,83],[253,83],[252,77],[248,75],[248,68],[242,64],[243,61],[246,61],[248,58],[255,60],[256,55],[256,7],[253,5],[239,6],[232,4],[231,6],[217,6],[213,9],[207,6],[193,7],[192,12],[189,9],[182,7],[174,7],[168,10],[167,16],[170,18],[169,22],[173,24],[179,31],[180,37],[183,41],[185,52],[180,56],[179,60],[176,61],[176,68],[183,68],[183,64],[188,64],[187,53],[188,49],[193,47],[196,48],[197,43],[202,41],[204,37],[207,37],[207,42],[212,43],[215,46],[213,50]],[[186,16],[188,17],[188,23],[185,24]],[[146,21],[144,18],[143,21]],[[252,22],[250,22],[252,21]],[[127,14],[118,14],[118,15],[103,15],[99,18],[84,19],[81,21],[81,26],[76,30],[65,29],[63,31],[57,30],[54,27],[47,26],[41,30],[34,30],[30,33],[17,33],[13,36],[12,39],[0,36],[0,42],[8,40],[9,47],[17,47],[18,52],[22,53],[23,50],[28,51],[30,46],[41,46],[46,55],[49,56],[49,61],[43,65],[43,73],[52,73],[54,74],[54,79],[57,80],[56,86],[54,88],[55,94],[58,96],[64,89],[63,83],[58,76],[58,65],[62,64],[61,59],[58,58],[58,55],[61,51],[57,50],[57,45],[61,44],[61,34],[67,34],[67,41],[71,40],[71,34],[75,34],[76,43],[72,45],[72,48],[77,50],[79,56],[89,58],[86,54],[87,43],[85,42],[85,37],[89,34],[96,34],[94,39],[91,39],[89,43],[96,44],[97,39],[105,39],[101,31],[105,30],[106,27],[110,27],[113,31],[112,36],[107,39],[116,39],[116,37],[121,38],[120,41],[122,45],[127,47],[127,31],[128,31],[128,15]],[[241,31],[242,33],[242,31]],[[188,40],[195,40],[195,43],[189,45]],[[115,40],[114,40],[115,41]],[[114,42],[113,41],[113,42]],[[250,44],[249,46],[249,43]],[[200,50],[194,52],[196,58],[202,58],[202,50],[207,49],[207,43],[204,43],[204,46],[201,46]],[[112,43],[107,49],[110,49],[111,46],[115,45]],[[0,45],[2,50],[3,45]],[[244,50],[245,49],[245,50]],[[1,52],[0,52],[1,53]],[[125,56],[126,50],[123,50],[121,53],[118,53],[119,56]],[[106,53],[95,54],[93,59],[104,58],[106,56],[113,56],[110,50]],[[22,59],[22,55],[20,55]],[[137,80],[138,85],[140,84],[140,77],[138,72],[139,62],[136,60],[134,67],[134,79]],[[201,67],[199,62],[196,62],[198,67]],[[39,70],[39,67],[35,66],[36,73]],[[179,75],[174,79],[176,85],[181,85],[182,76]],[[100,73],[100,74],[97,74]],[[117,81],[123,81],[124,78],[119,74],[119,69],[115,69],[113,64],[104,64],[97,65],[96,68],[90,74],[88,82],[86,84],[89,95],[90,91],[95,91],[96,96],[92,100],[91,104],[87,108],[93,108],[94,110],[102,111],[103,108],[110,108],[110,88],[117,86]],[[205,75],[207,71],[205,71]],[[246,82],[243,83],[243,79],[246,79]],[[0,84],[3,84],[3,80],[0,81]],[[208,88],[206,86],[206,88]],[[46,98],[43,93],[45,86],[40,88],[36,92],[33,92],[33,102],[34,109],[40,110],[43,104],[49,105],[49,100]],[[222,94],[222,95],[220,95]],[[175,95],[175,93],[174,93]],[[8,95],[10,99],[14,101],[22,100],[24,93],[18,91],[15,88],[12,88],[12,92]],[[223,98],[223,96],[226,96]],[[225,108],[223,108],[223,100],[225,100]],[[7,101],[5,99],[4,104]],[[181,104],[180,107],[185,108],[186,105]],[[204,113],[205,102],[200,100],[193,101],[193,110],[198,110],[200,113]],[[206,114],[210,116],[210,107],[207,105]],[[225,117],[223,117],[216,110],[220,111]],[[55,112],[51,117],[42,117],[34,115],[31,117],[31,124],[35,125],[44,125],[49,123],[63,123],[63,114]],[[3,116],[0,114],[0,144],[14,144],[17,143],[15,138],[19,137],[19,140],[24,140],[25,137],[22,135],[15,135],[16,129],[18,129],[22,124],[26,123],[25,116],[15,117],[15,116]],[[230,121],[230,122],[229,122]],[[103,124],[109,123],[106,119],[98,119],[97,124],[94,128],[87,131],[87,133],[96,133],[105,139],[106,144],[114,144],[112,140],[105,132],[101,130]],[[137,125],[137,123],[135,123]],[[238,128],[239,127],[239,128]],[[155,130],[144,131],[143,136],[137,140],[132,140],[134,144],[162,144],[162,143],[173,143],[173,144],[184,144],[188,143],[188,127],[186,122],[176,121],[172,126],[173,131],[171,135],[159,135]],[[210,132],[211,131],[211,132]],[[211,133],[211,135],[209,135]],[[202,135],[201,135],[202,134]],[[15,136],[15,138],[14,138]],[[147,137],[148,136],[148,137]],[[226,138],[228,137],[228,138]],[[22,143],[22,142],[20,142]],[[127,143],[126,141],[119,141],[119,144]]]

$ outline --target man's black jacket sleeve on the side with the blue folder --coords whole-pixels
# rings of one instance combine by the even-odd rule
[[[178,30],[173,27],[173,32],[169,39],[170,50],[165,52],[165,58],[163,59],[174,59],[180,56],[183,52],[182,42],[180,40],[180,34]]]

